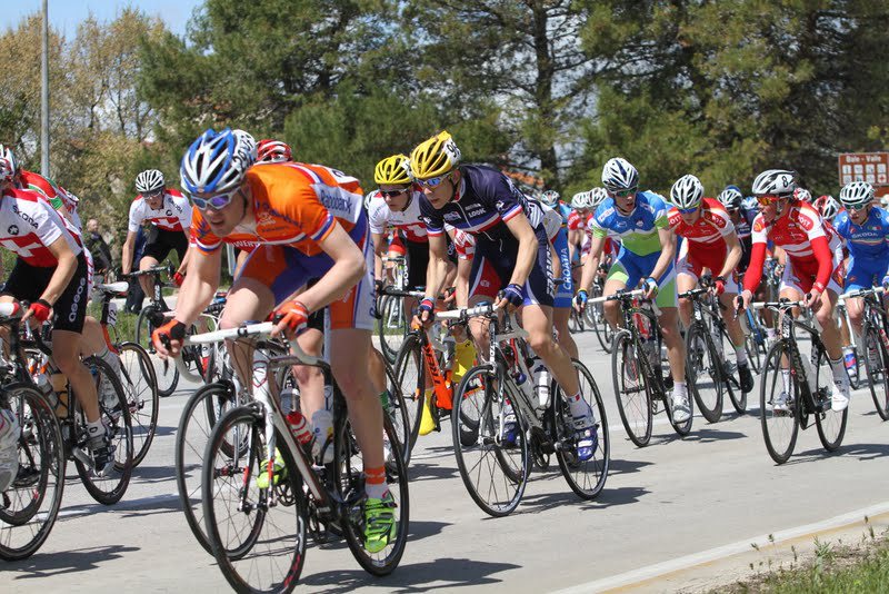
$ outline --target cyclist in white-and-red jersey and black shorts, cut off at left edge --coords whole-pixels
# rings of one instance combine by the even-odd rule
[[[17,255],[0,300],[30,301],[22,321],[32,325],[53,316],[52,358],[87,415],[87,446],[101,476],[114,465],[114,446],[92,374],[80,360],[88,297],[82,242],[42,194],[16,188],[18,164],[11,150],[0,148],[0,246]]]

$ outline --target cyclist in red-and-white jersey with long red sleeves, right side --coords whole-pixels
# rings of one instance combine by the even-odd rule
[[[840,412],[849,406],[849,377],[842,360],[840,335],[835,319],[840,287],[833,278],[838,265],[831,239],[828,237],[818,211],[810,204],[797,200],[796,174],[781,169],[769,169],[753,181],[753,195],[759,202],[760,212],[753,219],[752,253],[743,293],[739,305],[747,307],[762,276],[766,247],[769,240],[783,248],[787,265],[781,277],[780,297],[790,300],[805,300],[815,311],[821,326],[821,341],[827,349],[833,372],[831,408]],[[833,246],[836,249],[836,246]],[[787,410],[790,393],[790,372],[782,375],[783,392],[772,403],[775,410]]]

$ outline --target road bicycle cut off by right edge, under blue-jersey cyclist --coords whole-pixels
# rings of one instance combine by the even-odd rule
[[[889,316],[878,296],[883,295],[882,287],[860,289],[845,294],[843,300],[860,297],[863,313],[861,315],[861,345],[859,364],[863,359],[867,373],[867,385],[877,414],[889,420]]]

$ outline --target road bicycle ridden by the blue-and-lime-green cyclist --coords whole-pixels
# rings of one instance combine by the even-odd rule
[[[670,425],[680,437],[688,435],[695,419],[695,402],[700,397],[686,369],[689,417],[681,423],[673,419],[668,393],[672,387],[672,377],[669,374],[665,377],[661,370],[660,326],[655,305],[643,298],[645,293],[643,289],[621,290],[598,298],[601,301],[620,303],[623,326],[615,333],[611,374],[620,420],[630,440],[639,447],[645,447],[651,440],[653,418],[661,410],[667,414]]]

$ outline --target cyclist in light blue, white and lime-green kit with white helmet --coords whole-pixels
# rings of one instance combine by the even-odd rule
[[[648,297],[661,310],[659,324],[670,373],[673,378],[672,417],[683,423],[691,416],[686,386],[686,353],[679,334],[676,289],[676,235],[670,230],[667,205],[651,191],[639,191],[639,172],[626,159],[609,159],[602,168],[602,186],[608,198],[599,205],[592,217],[592,246],[583,264],[580,290],[576,296],[578,308],[586,306],[587,290],[599,266],[599,257],[610,236],[620,239],[621,247],[606,279],[603,295],[613,295],[625,288],[636,288],[645,283]],[[612,327],[620,320],[618,301],[605,304],[606,317]],[[660,353],[652,355],[660,365]]]

